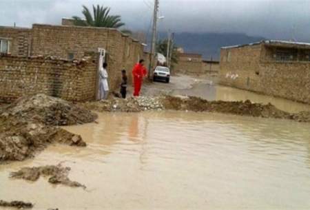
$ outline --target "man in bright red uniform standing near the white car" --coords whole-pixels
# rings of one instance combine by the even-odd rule
[[[144,67],[144,60],[141,59],[132,70],[132,76],[134,78],[134,96],[139,96],[143,77],[146,75],[147,70]]]

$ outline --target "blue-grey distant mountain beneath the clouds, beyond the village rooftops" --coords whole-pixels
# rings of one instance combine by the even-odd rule
[[[167,33],[161,33],[160,37],[166,37]],[[265,40],[260,36],[247,36],[239,33],[176,33],[175,43],[185,52],[203,54],[204,59],[218,60],[220,48],[229,45],[242,45]]]

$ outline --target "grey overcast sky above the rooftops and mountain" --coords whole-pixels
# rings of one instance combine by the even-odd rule
[[[310,0],[159,0],[161,30],[242,32],[269,39],[310,41]],[[102,4],[127,28],[149,30],[153,0],[0,0],[0,25],[60,24],[81,6]]]

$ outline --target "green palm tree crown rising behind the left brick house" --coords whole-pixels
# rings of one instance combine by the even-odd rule
[[[93,14],[90,10],[83,6],[82,13],[85,19],[81,17],[73,16],[72,19],[74,25],[79,26],[92,26],[92,27],[104,27],[104,28],[121,28],[125,23],[121,22],[121,16],[110,15],[110,8],[97,5],[93,5]],[[129,30],[123,30],[126,34],[130,34]]]

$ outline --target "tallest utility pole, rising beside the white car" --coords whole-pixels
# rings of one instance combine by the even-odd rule
[[[148,71],[148,77],[149,79],[152,78],[152,72],[153,72],[153,63],[154,59],[156,57],[155,51],[156,51],[156,33],[157,33],[157,14],[158,14],[158,0],[154,0],[154,14],[153,14],[153,28],[152,28],[152,45],[151,45],[151,54],[149,56],[149,71]]]

